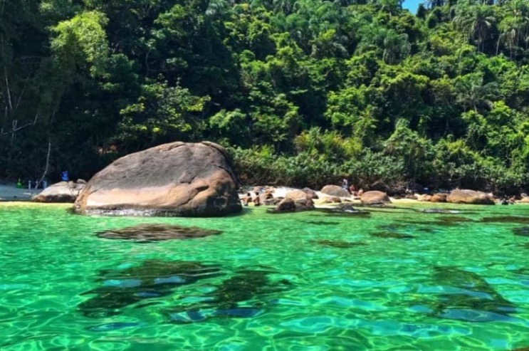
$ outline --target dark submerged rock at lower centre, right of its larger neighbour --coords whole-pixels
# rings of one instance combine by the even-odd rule
[[[183,296],[181,300],[199,300],[183,303],[169,310],[173,323],[197,323],[210,318],[251,318],[263,312],[263,297],[290,288],[285,279],[273,282],[271,271],[243,270],[226,279],[216,289],[199,296]]]

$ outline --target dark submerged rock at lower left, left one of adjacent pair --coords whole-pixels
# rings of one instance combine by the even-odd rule
[[[193,261],[152,260],[141,266],[101,271],[98,281],[103,286],[82,293],[95,296],[80,303],[78,309],[87,317],[119,315],[128,305],[167,296],[181,285],[221,275],[219,266]]]

